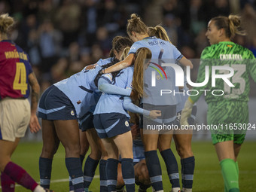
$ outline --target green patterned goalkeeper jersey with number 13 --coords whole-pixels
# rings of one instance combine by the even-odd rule
[[[256,62],[251,50],[231,41],[222,41],[206,47],[201,54],[197,83],[205,81],[206,66],[209,66],[209,81],[203,87],[193,88],[193,90],[198,91],[197,95],[193,91],[193,96],[190,96],[193,102],[197,102],[202,94],[206,96],[207,103],[232,99],[243,102],[248,101],[249,76],[256,82]],[[216,78],[215,87],[212,87],[212,66],[229,66],[233,68],[234,75],[228,80],[234,87],[230,87],[221,78]],[[230,73],[228,70],[216,70],[215,72],[216,75],[228,73]]]

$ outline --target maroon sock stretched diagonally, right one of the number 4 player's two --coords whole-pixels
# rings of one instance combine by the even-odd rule
[[[26,187],[27,189],[30,189],[32,191],[35,190],[36,186],[38,186],[38,184],[29,175],[29,173],[27,173],[22,167],[11,161],[5,166],[4,173],[6,175],[9,175],[11,180],[17,182],[17,184],[20,184],[23,187]]]

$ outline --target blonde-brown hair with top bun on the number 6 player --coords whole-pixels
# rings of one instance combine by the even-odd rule
[[[132,32],[137,32],[139,34],[148,34],[148,27],[143,23],[137,14],[131,14],[130,20],[126,27],[126,32],[128,35],[132,35]]]

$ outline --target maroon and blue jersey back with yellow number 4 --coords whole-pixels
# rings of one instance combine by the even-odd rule
[[[29,97],[29,56],[12,41],[0,41],[0,99]]]

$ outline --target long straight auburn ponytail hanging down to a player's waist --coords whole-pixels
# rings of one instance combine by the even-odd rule
[[[145,70],[144,59],[151,59],[152,53],[146,47],[139,48],[135,53],[134,72],[133,72],[133,99],[142,99],[143,96],[143,74]]]

